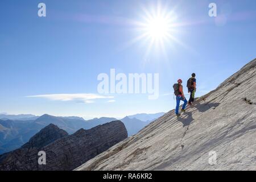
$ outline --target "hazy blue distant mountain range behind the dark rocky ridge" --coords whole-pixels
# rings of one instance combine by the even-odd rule
[[[143,115],[146,118],[145,114]],[[146,122],[135,117],[125,117],[120,120],[125,124],[128,135],[131,136],[148,125],[155,119],[154,117],[155,115],[151,114],[147,117],[149,119]],[[48,114],[40,117],[32,114],[1,114],[0,118],[2,118],[0,119],[0,154],[19,148],[43,127],[51,123],[67,131],[68,134],[73,134],[79,129],[91,129],[92,127],[117,120],[108,117],[84,120],[81,117],[55,117]]]

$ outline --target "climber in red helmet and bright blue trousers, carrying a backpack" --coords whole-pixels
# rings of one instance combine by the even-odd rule
[[[176,96],[176,110],[175,110],[175,113],[176,113],[177,117],[180,116],[180,114],[179,114],[180,101],[184,102],[184,104],[182,106],[182,109],[181,109],[182,112],[185,112],[185,107],[186,107],[187,102],[188,102],[186,100],[185,96],[184,96],[183,86],[181,84],[182,84],[182,80],[179,79],[177,81],[177,84],[174,84],[174,86],[173,86],[174,87],[174,94]]]

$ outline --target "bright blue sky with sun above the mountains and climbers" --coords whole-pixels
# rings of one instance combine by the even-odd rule
[[[212,2],[216,17],[209,16]],[[39,3],[45,17],[38,16]],[[121,118],[167,112],[175,107],[178,78],[185,85],[195,72],[199,97],[255,59],[255,7],[251,0],[2,0],[0,113]],[[155,17],[164,21],[154,24]],[[168,24],[168,35],[152,33],[152,24]],[[110,69],[127,77],[158,73],[159,97],[99,93],[97,77],[110,76]]]

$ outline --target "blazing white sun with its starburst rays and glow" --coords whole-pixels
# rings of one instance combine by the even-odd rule
[[[177,5],[170,6],[166,2],[160,1],[152,3],[150,6],[141,6],[136,19],[132,19],[131,30],[134,38],[125,43],[124,47],[130,47],[139,43],[144,53],[144,60],[150,60],[152,56],[162,56],[167,58],[176,50],[176,45],[188,48],[179,38],[184,32],[182,27],[189,25],[183,22],[182,17],[178,16]]]

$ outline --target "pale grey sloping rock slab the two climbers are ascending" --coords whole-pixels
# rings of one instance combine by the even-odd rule
[[[76,170],[256,170],[256,59]]]

